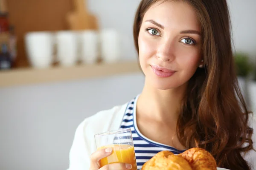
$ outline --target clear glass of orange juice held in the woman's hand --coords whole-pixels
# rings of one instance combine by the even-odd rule
[[[137,170],[131,129],[113,130],[95,135],[97,150],[112,148],[111,156],[101,159],[101,167],[106,164],[126,163]]]

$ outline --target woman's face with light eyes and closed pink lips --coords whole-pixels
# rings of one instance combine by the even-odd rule
[[[157,89],[186,85],[201,62],[201,27],[187,3],[154,4],[145,13],[139,34],[140,65]]]

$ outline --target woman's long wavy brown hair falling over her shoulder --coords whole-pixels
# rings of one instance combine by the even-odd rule
[[[145,12],[159,1],[142,0],[134,20],[134,43]],[[177,1],[177,0],[176,0]],[[178,0],[192,6],[201,23],[205,68],[189,80],[177,123],[180,142],[212,153],[218,167],[250,170],[241,153],[253,149],[249,111],[236,77],[231,45],[230,16],[226,0]]]

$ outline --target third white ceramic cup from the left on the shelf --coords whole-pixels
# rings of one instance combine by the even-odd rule
[[[99,56],[99,34],[97,31],[81,31],[79,33],[81,61],[87,64],[97,62]]]

